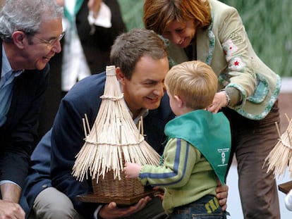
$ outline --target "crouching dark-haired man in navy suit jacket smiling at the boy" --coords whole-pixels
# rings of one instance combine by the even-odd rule
[[[174,118],[168,96],[164,94],[164,77],[169,70],[164,42],[149,30],[124,33],[116,39],[111,48],[111,63],[116,65],[116,76],[133,120],[137,120],[141,115],[144,117],[145,139],[162,154],[164,125]],[[90,127],[95,123],[102,101],[99,96],[104,94],[105,80],[105,73],[92,75],[78,82],[68,92],[61,101],[52,130],[39,142],[32,155],[25,196],[30,208],[33,208],[37,215],[39,212],[44,213],[42,218],[56,217],[56,208],[65,212],[68,212],[68,209],[70,212],[75,211],[68,218],[92,218],[94,213],[101,218],[166,216],[161,200],[150,199],[149,196],[128,208],[118,208],[114,202],[102,206],[75,199],[76,195],[92,192],[91,180],[79,182],[71,173],[75,155],[84,144],[82,119],[86,113]],[[51,156],[48,152],[50,150]],[[48,165],[51,165],[51,171]],[[225,194],[221,195],[226,198],[226,187],[223,190]],[[70,199],[70,204],[66,197]],[[62,203],[66,202],[65,208],[61,207],[63,204],[60,204],[60,200]],[[226,204],[226,200],[223,200],[223,204]],[[58,217],[66,218],[63,215]]]

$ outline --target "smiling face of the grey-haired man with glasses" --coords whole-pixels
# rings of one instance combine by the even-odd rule
[[[51,57],[56,53],[61,52],[61,44],[59,40],[48,45],[43,42],[42,39],[49,41],[51,39],[59,38],[62,29],[61,18],[57,18],[42,23],[39,32],[35,35],[26,35],[27,39],[29,39],[23,49],[23,58],[25,59],[25,66],[23,67],[25,67],[25,69],[42,70]]]

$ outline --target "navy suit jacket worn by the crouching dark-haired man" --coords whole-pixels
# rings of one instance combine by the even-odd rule
[[[75,196],[90,192],[91,182],[79,182],[71,175],[71,172],[75,155],[84,144],[82,118],[87,113],[90,126],[95,122],[102,101],[99,96],[104,93],[104,82],[105,73],[92,75],[78,82],[61,101],[51,134],[51,184],[65,193],[73,202],[76,210],[85,218],[92,216],[97,204],[81,203],[76,201]],[[147,134],[146,141],[159,154],[162,154],[164,149],[164,126],[171,118],[174,118],[174,114],[169,107],[168,96],[165,95],[159,108],[149,111],[143,120],[144,132]],[[48,139],[49,136],[46,135],[39,142],[37,151],[34,152],[35,156],[32,158],[34,170],[27,178],[29,189],[25,191],[30,207],[35,196],[42,191],[42,185],[45,184],[47,187],[50,184],[47,180],[49,172],[47,175],[44,174],[48,170],[49,162],[46,160],[49,159],[49,156],[42,154],[49,154]]]

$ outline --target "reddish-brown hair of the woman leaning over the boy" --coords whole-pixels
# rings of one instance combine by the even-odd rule
[[[211,12],[207,0],[145,0],[144,25],[162,35],[174,20],[193,20],[196,28],[209,26]]]

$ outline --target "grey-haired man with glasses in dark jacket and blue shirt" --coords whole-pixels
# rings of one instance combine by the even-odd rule
[[[62,8],[47,0],[1,1],[0,215],[24,218],[18,205],[37,139],[48,62],[61,51]]]

